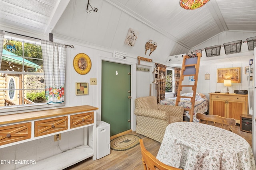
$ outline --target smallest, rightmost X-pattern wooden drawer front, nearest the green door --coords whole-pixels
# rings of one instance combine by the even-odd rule
[[[94,112],[70,115],[70,129],[94,123]]]

